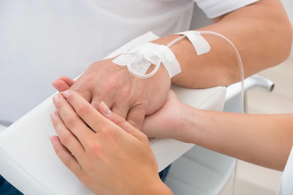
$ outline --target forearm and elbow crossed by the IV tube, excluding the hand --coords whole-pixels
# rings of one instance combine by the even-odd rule
[[[292,26],[280,0],[260,0],[214,20],[198,31],[213,31],[231,40],[243,61],[245,77],[288,58],[292,45]],[[154,42],[167,44],[179,35]],[[171,47],[182,72],[172,82],[188,88],[227,86],[240,80],[239,66],[230,44],[204,36],[211,50],[197,56],[188,39]]]

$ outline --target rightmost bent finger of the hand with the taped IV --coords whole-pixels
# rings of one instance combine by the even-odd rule
[[[142,105],[137,105],[128,111],[126,121],[137,129],[141,129],[146,116],[146,109]]]

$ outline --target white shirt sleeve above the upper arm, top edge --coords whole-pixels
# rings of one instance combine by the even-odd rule
[[[216,18],[259,0],[193,0],[207,17]]]

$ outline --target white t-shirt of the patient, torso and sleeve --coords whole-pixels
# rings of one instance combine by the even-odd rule
[[[194,0],[215,18],[257,0]],[[94,61],[148,31],[189,30],[192,0],[3,0],[0,121],[14,122]],[[0,122],[1,123],[1,122]]]

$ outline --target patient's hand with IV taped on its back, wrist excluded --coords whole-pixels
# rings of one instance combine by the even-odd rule
[[[60,82],[62,80],[56,80],[52,85],[57,88]],[[151,78],[136,78],[128,72],[126,66],[105,59],[91,64],[69,87],[94,108],[98,109],[104,101],[112,112],[141,129],[144,117],[156,112],[165,102],[170,83],[163,65]]]

